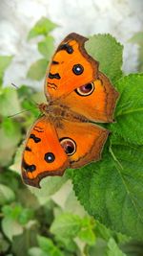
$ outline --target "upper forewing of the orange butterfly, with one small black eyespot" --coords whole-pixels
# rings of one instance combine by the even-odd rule
[[[86,37],[72,33],[57,48],[45,80],[45,94],[51,101],[97,78],[98,62],[86,52],[86,40]]]

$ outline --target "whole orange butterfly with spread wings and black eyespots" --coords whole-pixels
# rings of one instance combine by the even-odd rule
[[[48,175],[63,175],[101,158],[118,92],[85,49],[88,38],[72,33],[60,43],[46,72],[42,113],[28,134],[22,156],[26,184],[40,188]]]

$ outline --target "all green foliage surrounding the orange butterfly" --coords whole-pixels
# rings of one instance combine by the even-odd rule
[[[41,18],[28,35],[41,54],[27,74],[33,81],[45,76],[55,28]],[[140,73],[143,34],[131,41]],[[41,190],[23,184],[20,160],[44,95],[29,84],[4,87],[12,57],[0,57],[0,255],[143,255],[143,76],[122,73],[123,46],[112,35],[92,36],[86,49],[120,92],[115,123],[106,125],[112,135],[101,161],[45,178]]]

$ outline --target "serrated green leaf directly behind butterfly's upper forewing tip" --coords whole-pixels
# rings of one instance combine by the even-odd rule
[[[86,42],[86,50],[99,61],[99,70],[112,82],[121,78],[123,46],[112,35],[93,35]]]

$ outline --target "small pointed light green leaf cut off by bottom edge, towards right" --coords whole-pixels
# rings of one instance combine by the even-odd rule
[[[111,238],[109,240],[105,256],[126,256],[126,254],[119,249],[115,241]]]

